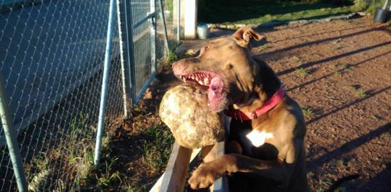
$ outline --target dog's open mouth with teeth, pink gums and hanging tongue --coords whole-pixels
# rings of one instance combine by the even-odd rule
[[[208,86],[209,109],[220,112],[228,106],[224,82],[220,75],[211,71],[197,71],[187,75],[177,75],[183,82],[197,82],[202,86]]]

